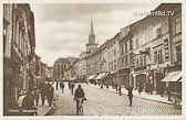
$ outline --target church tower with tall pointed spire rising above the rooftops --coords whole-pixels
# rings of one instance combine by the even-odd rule
[[[99,44],[95,43],[93,20],[91,19],[91,31],[89,35],[89,43],[86,44],[86,52],[89,53],[94,52],[97,48],[97,45]]]

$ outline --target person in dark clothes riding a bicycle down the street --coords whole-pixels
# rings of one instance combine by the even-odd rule
[[[81,85],[79,85],[79,87],[75,89],[75,94],[74,94],[74,100],[76,100],[76,114],[79,114],[79,106],[80,102],[83,103],[84,100],[87,100],[85,98],[85,94],[83,88],[81,87]],[[81,100],[81,101],[80,101]]]

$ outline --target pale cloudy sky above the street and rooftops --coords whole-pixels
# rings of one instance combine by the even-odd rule
[[[85,51],[93,19],[95,41],[103,44],[120,30],[154,10],[159,2],[137,3],[32,3],[35,53],[49,66],[59,57]],[[136,13],[144,13],[136,15]]]

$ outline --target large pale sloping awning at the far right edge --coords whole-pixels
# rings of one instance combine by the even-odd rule
[[[172,72],[168,73],[167,76],[165,76],[165,78],[162,79],[162,81],[178,81],[182,79],[182,72]]]

